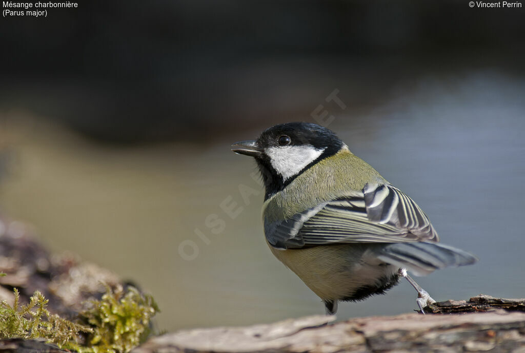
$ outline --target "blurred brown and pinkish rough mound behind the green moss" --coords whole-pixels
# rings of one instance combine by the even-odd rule
[[[89,299],[100,299],[104,284],[116,288],[119,277],[73,253],[49,254],[30,227],[0,216],[0,297],[13,301],[13,288],[26,304],[35,291],[49,299],[48,309],[62,317],[75,316]]]

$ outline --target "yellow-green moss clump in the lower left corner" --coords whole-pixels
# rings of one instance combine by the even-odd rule
[[[29,303],[19,305],[14,290],[14,304],[0,302],[0,338],[44,338],[61,348],[79,352],[125,353],[138,346],[150,334],[150,319],[159,312],[150,295],[133,287],[107,292],[100,301],[72,322],[46,309],[48,300],[38,291]]]

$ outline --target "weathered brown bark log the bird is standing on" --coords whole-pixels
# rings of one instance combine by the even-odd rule
[[[525,353],[525,299],[484,296],[437,303],[437,308],[486,312],[403,314],[329,324],[334,316],[310,316],[249,327],[183,330],[151,338],[133,353],[251,352],[465,352]],[[474,299],[474,301],[472,301]],[[481,301],[480,304],[476,304]],[[490,303],[492,304],[490,304]],[[448,304],[447,304],[448,303]],[[459,303],[459,304],[458,304]],[[442,305],[443,304],[443,305]]]

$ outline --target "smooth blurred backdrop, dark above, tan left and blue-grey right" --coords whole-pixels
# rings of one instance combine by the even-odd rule
[[[2,18],[0,212],[152,293],[161,329],[323,314],[267,249],[255,163],[229,145],[324,121],[442,242],[479,257],[420,278],[435,299],[523,297],[524,14],[457,0],[128,0]],[[402,283],[338,317],[415,299]]]

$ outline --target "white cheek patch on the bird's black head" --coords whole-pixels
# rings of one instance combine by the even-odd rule
[[[315,161],[324,149],[313,146],[268,147],[265,153],[270,157],[271,166],[286,180]]]

